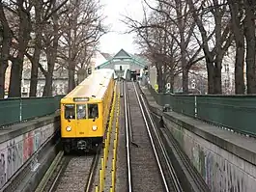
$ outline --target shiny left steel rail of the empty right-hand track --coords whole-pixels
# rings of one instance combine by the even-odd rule
[[[127,87],[124,86],[124,97],[125,97],[125,122],[126,122],[126,148],[127,148],[127,164],[128,164],[128,192],[132,191],[131,182],[131,167],[130,167],[130,153],[129,153],[129,131],[128,131],[128,97],[127,97]]]

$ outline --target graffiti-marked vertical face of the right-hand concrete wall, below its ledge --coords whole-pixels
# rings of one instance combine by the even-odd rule
[[[256,177],[251,177],[252,174],[246,173],[237,163],[239,160],[234,160],[239,157],[232,156],[230,152],[218,148],[176,123],[169,123],[174,137],[211,191],[256,191]],[[256,172],[255,166],[254,171]]]

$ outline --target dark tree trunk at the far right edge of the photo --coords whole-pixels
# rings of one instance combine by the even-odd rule
[[[245,3],[244,35],[246,39],[247,94],[256,94],[255,78],[255,23],[254,14],[248,1]]]

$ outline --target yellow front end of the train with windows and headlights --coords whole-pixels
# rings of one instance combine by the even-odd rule
[[[103,137],[100,100],[73,97],[64,98],[61,102],[61,135],[64,151],[96,151]]]

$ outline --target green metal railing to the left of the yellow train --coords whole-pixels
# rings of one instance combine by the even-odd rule
[[[0,127],[55,113],[63,96],[0,99]]]

